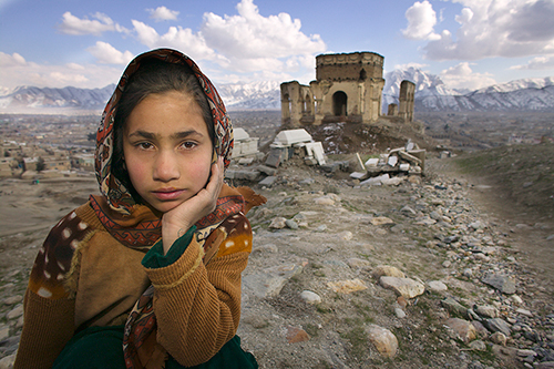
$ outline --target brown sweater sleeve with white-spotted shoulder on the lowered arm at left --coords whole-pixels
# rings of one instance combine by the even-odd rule
[[[14,368],[51,368],[73,336],[75,300],[64,287],[64,280],[71,269],[74,246],[91,235],[75,212],[50,230],[29,278]]]

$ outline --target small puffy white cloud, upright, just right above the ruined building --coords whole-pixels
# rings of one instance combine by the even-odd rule
[[[402,30],[402,34],[411,40],[438,40],[440,35],[434,33],[437,24],[437,13],[429,1],[416,1],[406,11],[408,27]]]

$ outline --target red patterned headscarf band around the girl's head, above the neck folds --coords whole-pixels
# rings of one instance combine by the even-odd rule
[[[230,163],[233,152],[233,127],[230,119],[227,115],[225,105],[223,104],[219,94],[215,90],[212,82],[205,76],[198,65],[185,54],[171,49],[158,49],[145,52],[136,57],[125,69],[117,88],[112,98],[107,102],[102,114],[99,131],[96,133],[96,155],[95,171],[96,180],[100,184],[100,192],[104,195],[107,205],[112,211],[126,216],[133,212],[133,206],[136,205],[131,196],[129,188],[125,187],[120,180],[112,174],[113,147],[114,147],[114,117],[117,110],[117,103],[121,99],[123,90],[129,81],[129,78],[141,68],[141,62],[146,59],[158,59],[168,63],[188,65],[206,95],[206,99],[212,110],[212,116],[215,131],[215,154],[223,156],[225,167]]]

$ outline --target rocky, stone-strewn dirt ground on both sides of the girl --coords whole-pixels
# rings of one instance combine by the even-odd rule
[[[271,187],[254,186],[268,203],[249,214],[238,334],[261,368],[554,368],[552,215],[514,212],[495,184],[435,156],[398,186],[295,160]],[[2,207],[20,221],[0,229],[0,368],[47,223],[90,189],[39,186],[34,201],[58,197],[33,222],[17,213],[30,185],[2,182]]]

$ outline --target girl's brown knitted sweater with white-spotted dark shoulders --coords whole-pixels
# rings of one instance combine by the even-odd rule
[[[90,204],[70,213],[50,232],[31,271],[14,368],[50,368],[76,330],[123,324],[151,283],[157,342],[184,366],[207,361],[236,332],[240,274],[252,250],[242,213],[214,232],[217,252],[207,264],[193,237],[177,262],[146,269],[144,250],[113,238]]]

